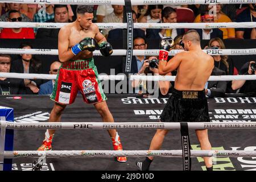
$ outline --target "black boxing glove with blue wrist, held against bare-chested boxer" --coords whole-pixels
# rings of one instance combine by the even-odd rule
[[[77,55],[79,52],[84,50],[88,50],[90,52],[95,51],[95,40],[93,38],[84,38],[80,43],[71,48],[74,55]]]

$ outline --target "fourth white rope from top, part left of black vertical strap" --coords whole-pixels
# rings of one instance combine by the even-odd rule
[[[34,73],[3,73],[0,72],[2,78],[26,78],[26,79],[45,79],[55,80],[56,75],[34,74]],[[124,75],[99,75],[100,80],[125,80]]]

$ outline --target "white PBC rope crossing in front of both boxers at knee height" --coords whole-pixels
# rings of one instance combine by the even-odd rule
[[[180,123],[167,123],[167,122],[6,122],[1,125],[6,125],[6,129],[14,130],[110,130],[110,129],[168,129],[180,130]],[[188,129],[256,129],[256,122],[243,123],[210,123],[210,122],[188,122]]]

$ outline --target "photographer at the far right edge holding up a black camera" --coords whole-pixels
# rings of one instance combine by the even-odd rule
[[[255,61],[245,63],[239,75],[256,75]],[[237,93],[256,93],[256,80],[233,80],[232,89],[237,90]]]

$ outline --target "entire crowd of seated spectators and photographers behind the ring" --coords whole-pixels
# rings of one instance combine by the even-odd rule
[[[76,5],[30,5],[19,3],[0,3],[1,22],[48,22],[68,23],[76,19]],[[120,5],[97,5],[94,6],[94,23],[122,23],[124,6]],[[228,23],[228,22],[256,22],[256,4],[250,5],[144,5],[133,6],[133,22],[135,23]],[[1,39],[57,39],[59,28],[3,28],[0,27]],[[155,29],[134,28],[134,49],[147,49],[147,39],[159,39],[163,36],[171,36],[175,40],[175,49],[183,49],[181,44],[182,35],[188,28]],[[104,29],[102,34],[107,39],[122,39],[123,30]],[[224,39],[256,39],[255,28],[204,28],[196,29],[201,40],[209,40],[205,49],[225,49]],[[20,48],[31,49],[28,43],[20,45]],[[229,56],[213,56],[215,68],[212,75],[247,75],[255,74],[251,64],[255,60],[248,60],[241,70],[234,67],[234,60]],[[158,74],[157,68],[150,68],[148,60],[152,57],[133,56],[131,62],[131,73],[153,73]],[[10,62],[7,63],[7,62]],[[50,74],[55,74],[59,67],[58,62],[49,68]],[[9,55],[0,55],[1,72],[16,73],[42,73],[42,62],[32,55],[20,55],[18,60],[11,60]],[[8,67],[8,68],[7,68]],[[10,68],[9,68],[10,67]],[[5,69],[3,69],[5,68]],[[175,75],[174,73],[170,73]],[[6,81],[7,80],[7,81]],[[13,82],[9,78],[1,78],[1,85]],[[54,81],[48,81],[48,86],[54,85]],[[19,80],[18,89],[23,94],[42,94],[43,81],[24,79]],[[205,85],[205,93],[208,97],[222,96],[225,92],[249,92],[253,81],[216,81]],[[133,83],[136,92],[140,93],[142,83]],[[45,86],[45,84],[43,84]],[[170,85],[170,88],[172,86]],[[1,89],[2,90],[2,89]],[[16,89],[17,90],[17,89]],[[249,91],[248,91],[249,90]],[[256,89],[254,88],[254,92]],[[7,89],[8,91],[8,89]],[[2,90],[2,94],[7,92]],[[160,90],[161,91],[161,90]],[[163,90],[162,90],[163,91]],[[16,93],[10,92],[9,93]],[[51,92],[48,90],[47,93]],[[165,93],[165,91],[164,91]]]

